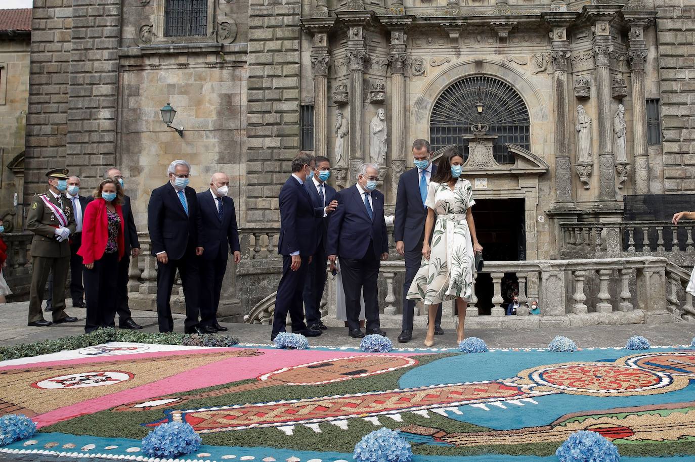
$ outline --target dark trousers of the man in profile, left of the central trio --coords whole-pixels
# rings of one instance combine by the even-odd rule
[[[303,331],[304,310],[302,309],[302,291],[306,282],[306,273],[309,270],[309,257],[302,257],[302,265],[299,270],[291,270],[292,257],[282,256],[282,277],[277,285],[275,296],[275,314],[272,317],[272,335],[285,331],[285,320],[290,313],[292,331]]]

